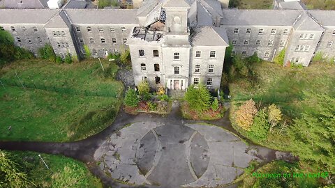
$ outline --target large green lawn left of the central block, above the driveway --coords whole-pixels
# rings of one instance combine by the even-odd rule
[[[2,68],[0,140],[73,141],[110,125],[123,86],[112,78],[117,65],[103,66],[105,72],[98,60],[58,65],[35,59]]]

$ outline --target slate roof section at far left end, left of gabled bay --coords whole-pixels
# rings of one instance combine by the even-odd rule
[[[0,9],[0,24],[45,24],[59,10]]]

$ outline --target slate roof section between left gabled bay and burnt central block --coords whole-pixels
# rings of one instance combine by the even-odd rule
[[[137,24],[136,9],[66,9],[73,24]]]

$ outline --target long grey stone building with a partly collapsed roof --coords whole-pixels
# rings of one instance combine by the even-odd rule
[[[148,0],[131,10],[71,7],[0,9],[0,29],[36,55],[46,43],[62,57],[82,58],[85,48],[106,57],[128,48],[136,84],[147,79],[171,90],[200,82],[219,88],[228,45],[234,54],[267,61],[285,49],[285,64],[304,66],[315,54],[335,56],[335,11],[306,10],[299,1],[275,0],[274,10],[225,9],[216,0]]]

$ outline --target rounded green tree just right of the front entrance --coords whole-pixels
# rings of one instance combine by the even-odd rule
[[[202,112],[209,109],[211,104],[211,95],[203,84],[199,84],[197,87],[191,85],[185,94],[185,100],[190,109]]]

